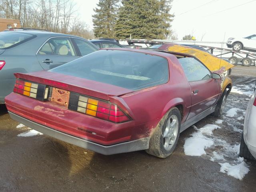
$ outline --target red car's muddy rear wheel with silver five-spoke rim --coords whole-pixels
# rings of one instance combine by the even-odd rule
[[[166,158],[174,151],[180,136],[181,116],[178,108],[171,108],[152,131],[148,154]]]

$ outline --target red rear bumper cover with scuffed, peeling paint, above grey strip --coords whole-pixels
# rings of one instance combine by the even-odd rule
[[[148,137],[134,135],[134,121],[112,123],[17,93],[9,94],[5,101],[8,111],[18,116],[103,146]]]

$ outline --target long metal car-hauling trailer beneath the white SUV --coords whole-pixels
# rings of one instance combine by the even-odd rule
[[[165,44],[165,43],[176,43],[176,42],[172,42],[172,41],[166,41],[166,40],[140,40],[140,39],[125,39],[125,41],[127,41],[127,43],[129,45],[132,44],[146,44],[147,47],[153,46],[153,45],[157,45],[157,44]],[[177,44],[177,43],[176,43]],[[245,52],[245,51],[234,51],[231,49],[227,49],[227,48],[219,48],[219,47],[212,47],[212,46],[204,46],[204,45],[195,45],[195,44],[191,44],[192,46],[198,46],[201,48],[204,48],[206,51],[210,52],[211,54],[214,54],[214,50],[219,50],[221,53],[220,54],[216,54],[215,56],[222,56],[225,54],[232,54],[232,56],[230,58],[228,58],[228,60],[230,60],[230,63],[233,65],[238,64],[238,62],[241,61],[242,65],[244,66],[251,66],[252,64],[254,66],[256,66],[256,53],[251,53],[251,52]],[[242,56],[246,55],[245,57]],[[238,58],[236,56],[240,56],[241,58]]]

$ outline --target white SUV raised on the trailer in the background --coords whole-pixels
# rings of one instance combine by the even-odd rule
[[[251,35],[245,38],[229,38],[227,46],[234,51],[247,50],[256,52],[256,35]]]

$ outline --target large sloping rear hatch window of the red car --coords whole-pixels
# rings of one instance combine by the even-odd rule
[[[140,90],[168,81],[168,62],[150,54],[99,50],[49,70],[130,90]]]

